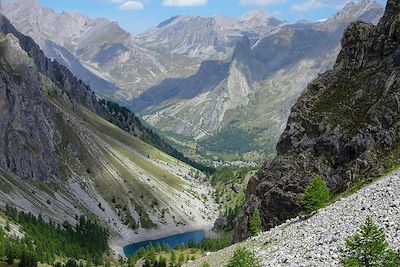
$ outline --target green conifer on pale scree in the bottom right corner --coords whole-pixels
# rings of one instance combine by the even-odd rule
[[[340,261],[345,267],[397,267],[400,253],[389,247],[383,229],[368,217],[357,233],[346,239]]]

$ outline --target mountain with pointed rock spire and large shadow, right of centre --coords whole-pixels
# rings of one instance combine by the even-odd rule
[[[256,42],[247,35],[239,38],[230,59],[208,63],[207,75],[213,74],[210,83],[200,82],[207,73],[201,69],[186,79],[169,79],[149,88],[131,106],[172,138],[186,140],[183,146],[196,143],[196,152],[203,156],[229,153],[230,158],[237,154],[238,160],[263,159],[274,152],[303,88],[334,64],[347,25],[359,19],[376,23],[382,13],[383,7],[373,1],[349,3],[317,23],[291,25],[262,12],[250,13],[237,23],[257,29],[256,25],[268,22],[270,31],[259,34]],[[218,65],[229,67],[213,71]],[[215,81],[219,83],[210,88]]]

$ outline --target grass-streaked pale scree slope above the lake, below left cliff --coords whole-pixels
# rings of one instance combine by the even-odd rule
[[[51,82],[44,90],[58,110],[59,175],[41,183],[0,169],[0,205],[12,203],[58,222],[73,221],[76,214],[84,213],[110,227],[118,246],[128,244],[128,239],[142,239],[147,232],[140,228],[159,228],[154,235],[211,220],[212,201],[196,198],[192,192],[193,186],[199,194],[208,190],[192,179],[194,168],[84,107],[84,116],[78,115],[55,97],[57,88]],[[77,154],[71,154],[71,145],[77,145]],[[139,229],[128,226],[132,220]]]

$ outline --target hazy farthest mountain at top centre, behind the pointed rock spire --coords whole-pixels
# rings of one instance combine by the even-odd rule
[[[226,59],[243,35],[256,41],[284,24],[264,11],[251,12],[239,19],[223,15],[176,16],[146,31],[139,39],[152,50],[163,49],[203,60]]]

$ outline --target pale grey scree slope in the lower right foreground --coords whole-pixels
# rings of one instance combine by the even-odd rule
[[[252,249],[263,266],[340,266],[344,240],[371,216],[400,249],[400,171],[395,171],[357,193],[338,200],[311,218],[287,221],[245,242],[188,263],[187,267],[223,266],[237,247]]]

